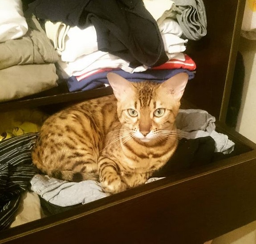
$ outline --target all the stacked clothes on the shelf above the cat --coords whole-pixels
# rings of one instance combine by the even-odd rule
[[[194,77],[195,62],[184,51],[189,39],[207,33],[202,0],[29,2],[25,12],[21,0],[0,3],[0,102],[55,87],[58,79],[71,92],[102,87],[109,71],[130,81]]]

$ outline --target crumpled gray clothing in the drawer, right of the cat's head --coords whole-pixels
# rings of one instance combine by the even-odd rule
[[[195,139],[211,136],[215,141],[215,152],[231,153],[235,143],[228,136],[215,131],[215,117],[205,110],[180,109],[176,117],[177,129],[182,130],[181,138]]]

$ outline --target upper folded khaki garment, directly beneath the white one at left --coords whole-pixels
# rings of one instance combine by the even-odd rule
[[[21,64],[56,63],[57,51],[35,16],[26,17],[28,32],[0,43],[0,69]]]

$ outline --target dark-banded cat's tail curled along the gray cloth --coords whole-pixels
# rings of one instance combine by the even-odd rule
[[[72,170],[54,170],[51,176],[60,180],[80,182],[86,180],[98,181],[99,175],[93,172],[74,172]]]

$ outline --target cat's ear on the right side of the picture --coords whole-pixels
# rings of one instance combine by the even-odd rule
[[[174,75],[163,82],[158,89],[165,94],[172,94],[176,100],[180,100],[187,85],[188,74],[185,72]]]

